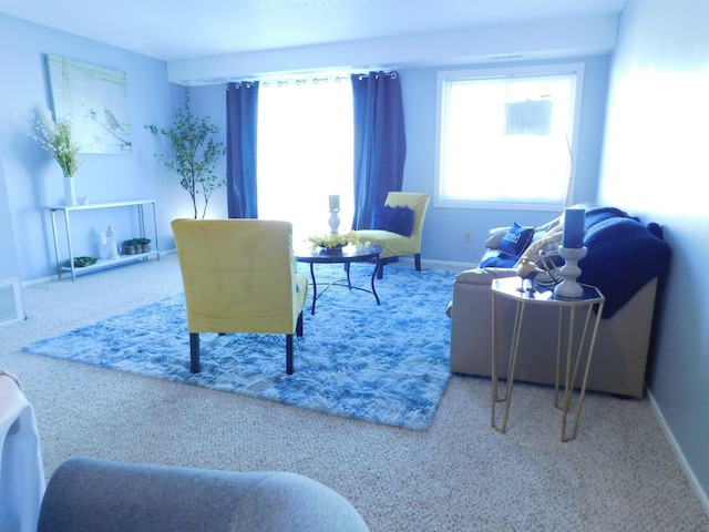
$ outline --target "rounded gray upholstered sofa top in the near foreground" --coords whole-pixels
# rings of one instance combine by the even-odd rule
[[[38,532],[369,530],[339,493],[300,474],[226,472],[86,458],[52,475]]]

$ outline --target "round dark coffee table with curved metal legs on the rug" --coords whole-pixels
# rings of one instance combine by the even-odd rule
[[[296,260],[299,263],[306,263],[310,265],[310,278],[312,279],[312,308],[311,314],[315,314],[315,304],[325,290],[327,290],[331,286],[347,286],[350,290],[354,288],[356,290],[369,291],[377,299],[377,305],[380,305],[379,296],[377,295],[377,289],[374,288],[374,278],[377,275],[377,268],[379,268],[379,254],[381,253],[381,246],[377,246],[371,244],[369,246],[346,246],[341,248],[335,249],[301,249],[296,250]],[[350,282],[350,264],[352,263],[374,263],[374,269],[372,270],[371,278],[371,290],[368,288],[362,288],[358,286],[352,286]],[[315,265],[316,264],[342,264],[345,265],[345,272],[347,274],[347,285],[342,284],[345,279],[335,280],[329,283],[325,288],[320,290],[318,294],[318,285],[315,280]]]

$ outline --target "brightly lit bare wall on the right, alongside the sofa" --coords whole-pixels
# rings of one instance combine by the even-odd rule
[[[709,493],[709,2],[630,0],[613,55],[600,197],[664,226],[672,260],[648,386]],[[709,507],[707,507],[709,511]]]

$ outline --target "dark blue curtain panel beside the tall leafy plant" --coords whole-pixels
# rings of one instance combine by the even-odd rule
[[[226,86],[226,186],[229,218],[257,218],[258,82]]]

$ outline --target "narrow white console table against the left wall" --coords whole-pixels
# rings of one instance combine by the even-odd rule
[[[121,255],[116,259],[99,259],[96,264],[92,266],[83,266],[76,268],[74,266],[74,250],[72,246],[71,238],[71,222],[70,214],[76,213],[81,211],[92,211],[96,208],[119,208],[119,207],[135,207],[137,209],[138,215],[138,225],[141,231],[141,236],[145,236],[145,207],[152,207],[153,214],[153,235],[155,243],[154,249],[148,253],[140,253],[135,255]],[[112,203],[93,203],[86,205],[55,205],[49,207],[51,217],[52,217],[52,233],[54,235],[54,254],[56,257],[56,273],[59,275],[59,279],[62,278],[62,273],[71,272],[72,280],[76,280],[76,273],[86,273],[99,268],[105,268],[110,266],[119,266],[126,263],[132,263],[140,259],[147,259],[150,257],[156,257],[160,260],[160,247],[157,244],[157,215],[155,213],[155,200],[135,200],[130,202],[112,202]],[[64,215],[64,227],[66,228],[66,245],[69,247],[69,265],[62,266],[60,259],[60,250],[59,250],[59,232],[56,228],[56,213],[63,213]]]

